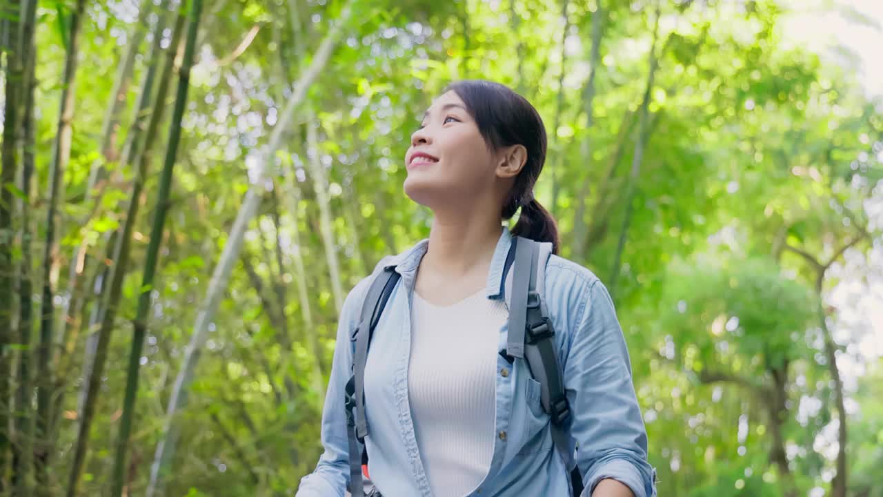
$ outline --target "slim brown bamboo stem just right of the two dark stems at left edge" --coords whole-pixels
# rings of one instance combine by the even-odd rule
[[[62,179],[64,169],[71,156],[71,139],[73,119],[74,82],[77,72],[77,52],[79,47],[79,25],[84,14],[86,0],[77,0],[71,12],[71,26],[68,32],[67,56],[64,58],[64,79],[62,80],[61,104],[58,110],[58,126],[56,139],[52,146],[52,162],[49,166],[49,206],[46,214],[46,242],[43,249],[43,280],[42,300],[40,302],[40,349],[39,349],[39,389],[37,394],[37,436],[40,437],[40,448],[36,451],[36,474],[38,487],[43,493],[48,492],[49,481],[46,470],[49,465],[49,453],[52,445],[49,434],[50,413],[54,382],[52,380],[52,343],[53,298],[55,295],[54,281],[50,268],[53,265],[56,251],[56,233],[60,231],[56,225],[58,203],[64,197]]]

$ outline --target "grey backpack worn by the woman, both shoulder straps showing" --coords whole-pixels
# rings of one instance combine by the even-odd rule
[[[573,495],[578,496],[583,491],[583,481],[570,452],[566,430],[570,420],[570,404],[564,394],[562,369],[555,351],[555,329],[540,296],[551,250],[551,243],[512,237],[502,272],[502,280],[506,281],[510,266],[514,266],[511,291],[506,295],[509,299],[509,335],[506,348],[500,351],[500,355],[509,363],[514,363],[516,357],[524,359],[532,377],[540,383],[540,403],[551,417],[555,448],[570,470]],[[374,327],[399,278],[394,266],[384,267],[376,273],[362,304],[359,324],[351,335],[351,340],[355,341],[355,352],[352,375],[346,384],[345,407],[350,449],[349,490],[352,497],[382,497],[373,486],[366,487],[362,479],[363,470],[367,475],[365,437],[369,432],[365,417],[365,364]]]

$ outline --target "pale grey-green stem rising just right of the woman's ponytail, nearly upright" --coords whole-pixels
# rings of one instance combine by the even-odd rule
[[[589,79],[585,82],[583,90],[583,105],[585,107],[585,138],[580,144],[579,157],[583,157],[587,170],[592,168],[592,126],[594,125],[594,99],[595,99],[595,77],[598,74],[598,65],[600,64],[601,52],[601,35],[603,34],[604,11],[601,0],[598,0],[595,11],[592,12],[592,54],[589,56]],[[591,174],[586,172],[583,182],[584,187],[577,194],[577,207],[574,211],[573,218],[573,236],[571,242],[574,244],[572,255],[577,261],[582,259],[583,248],[585,247],[585,201],[589,195],[589,178]]]

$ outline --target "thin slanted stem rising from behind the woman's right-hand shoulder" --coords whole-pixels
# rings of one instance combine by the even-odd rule
[[[656,77],[656,68],[659,66],[659,59],[656,57],[656,42],[659,37],[660,28],[660,4],[656,3],[656,20],[653,23],[653,42],[650,44],[649,68],[647,73],[647,84],[644,89],[644,99],[641,101],[638,117],[638,140],[635,141],[635,153],[631,158],[631,173],[629,175],[629,186],[625,194],[625,216],[623,218],[623,229],[619,233],[619,243],[616,245],[616,255],[613,262],[613,272],[609,279],[609,289],[611,298],[615,298],[616,279],[619,278],[620,259],[623,257],[623,248],[625,248],[625,240],[628,237],[629,225],[631,222],[631,203],[635,196],[635,184],[638,183],[638,174],[641,170],[641,160],[644,157],[644,147],[647,138],[647,107],[650,105],[650,99],[653,95],[653,80]]]

